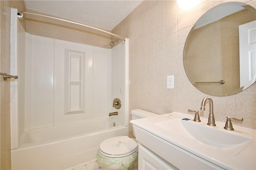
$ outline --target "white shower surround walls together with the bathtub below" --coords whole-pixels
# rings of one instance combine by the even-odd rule
[[[12,112],[11,120],[18,116],[18,122],[11,122],[12,132],[18,125],[18,135],[12,133],[12,168],[64,169],[95,159],[103,140],[128,135],[127,38],[106,49],[28,34],[19,22],[17,36],[18,114]],[[112,108],[114,98],[122,101],[119,110]],[[111,111],[119,114],[109,117]]]

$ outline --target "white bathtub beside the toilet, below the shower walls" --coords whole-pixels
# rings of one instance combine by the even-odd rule
[[[128,127],[111,118],[28,130],[12,150],[12,169],[64,170],[96,159],[100,143],[114,136],[128,136]]]

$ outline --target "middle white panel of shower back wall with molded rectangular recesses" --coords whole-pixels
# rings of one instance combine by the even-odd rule
[[[54,46],[54,124],[92,119],[93,47],[62,40]]]

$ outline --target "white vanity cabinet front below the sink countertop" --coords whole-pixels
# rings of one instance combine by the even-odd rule
[[[139,144],[139,170],[221,170],[186,150],[173,145],[146,130],[133,126]]]

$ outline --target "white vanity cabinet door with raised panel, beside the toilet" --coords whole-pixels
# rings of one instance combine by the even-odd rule
[[[139,144],[138,170],[177,170],[156,154]]]

